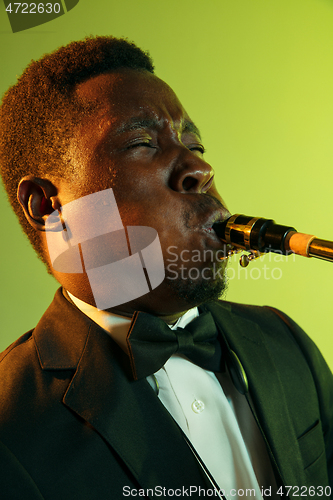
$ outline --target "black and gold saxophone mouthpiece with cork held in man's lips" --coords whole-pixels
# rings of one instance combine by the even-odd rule
[[[303,257],[316,257],[333,262],[333,242],[321,240],[311,234],[298,233],[294,227],[276,224],[272,219],[235,214],[223,222],[216,222],[213,229],[218,237],[233,248],[246,250],[240,264],[249,262],[267,252],[282,255],[295,253]]]

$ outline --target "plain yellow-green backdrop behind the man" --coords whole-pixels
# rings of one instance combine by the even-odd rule
[[[332,0],[80,0],[15,34],[0,3],[1,94],[32,58],[89,34],[126,36],[150,51],[200,127],[232,213],[333,239]],[[3,190],[0,205],[1,350],[35,326],[57,283]],[[268,255],[247,270],[234,262],[230,276],[229,300],[282,309],[333,367],[332,264]]]

